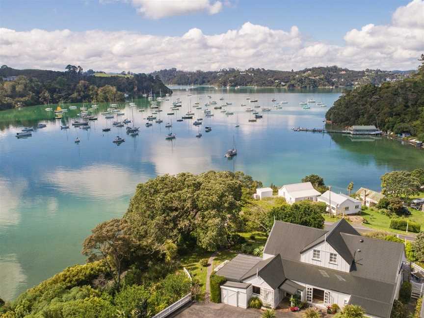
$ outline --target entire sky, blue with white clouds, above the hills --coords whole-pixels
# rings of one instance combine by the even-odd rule
[[[424,0],[0,0],[0,63],[106,72],[410,70]]]

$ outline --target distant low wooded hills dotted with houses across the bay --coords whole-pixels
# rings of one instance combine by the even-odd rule
[[[273,87],[328,87],[353,86],[358,84],[380,84],[387,79],[402,79],[409,72],[380,70],[352,71],[337,66],[314,67],[301,71],[274,71],[265,69],[234,68],[219,71],[186,72],[175,68],[151,73],[166,84],[216,85],[216,86],[273,86]]]

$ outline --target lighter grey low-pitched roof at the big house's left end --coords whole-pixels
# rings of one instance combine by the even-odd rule
[[[217,270],[216,275],[223,276],[228,280],[239,282],[252,267],[261,261],[262,258],[257,256],[238,254],[230,262]]]

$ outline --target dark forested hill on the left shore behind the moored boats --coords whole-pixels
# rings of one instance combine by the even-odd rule
[[[124,94],[171,93],[159,77],[146,74],[95,76],[68,65],[66,71],[0,68],[0,110],[16,106],[77,102],[119,102]]]

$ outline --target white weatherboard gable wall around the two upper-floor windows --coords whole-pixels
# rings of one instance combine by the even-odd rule
[[[320,251],[320,261],[312,258],[314,249]],[[337,254],[336,264],[330,263],[330,253]],[[337,269],[347,273],[350,271],[350,265],[347,264],[347,262],[337,253],[337,251],[325,241],[300,254],[300,262]]]

